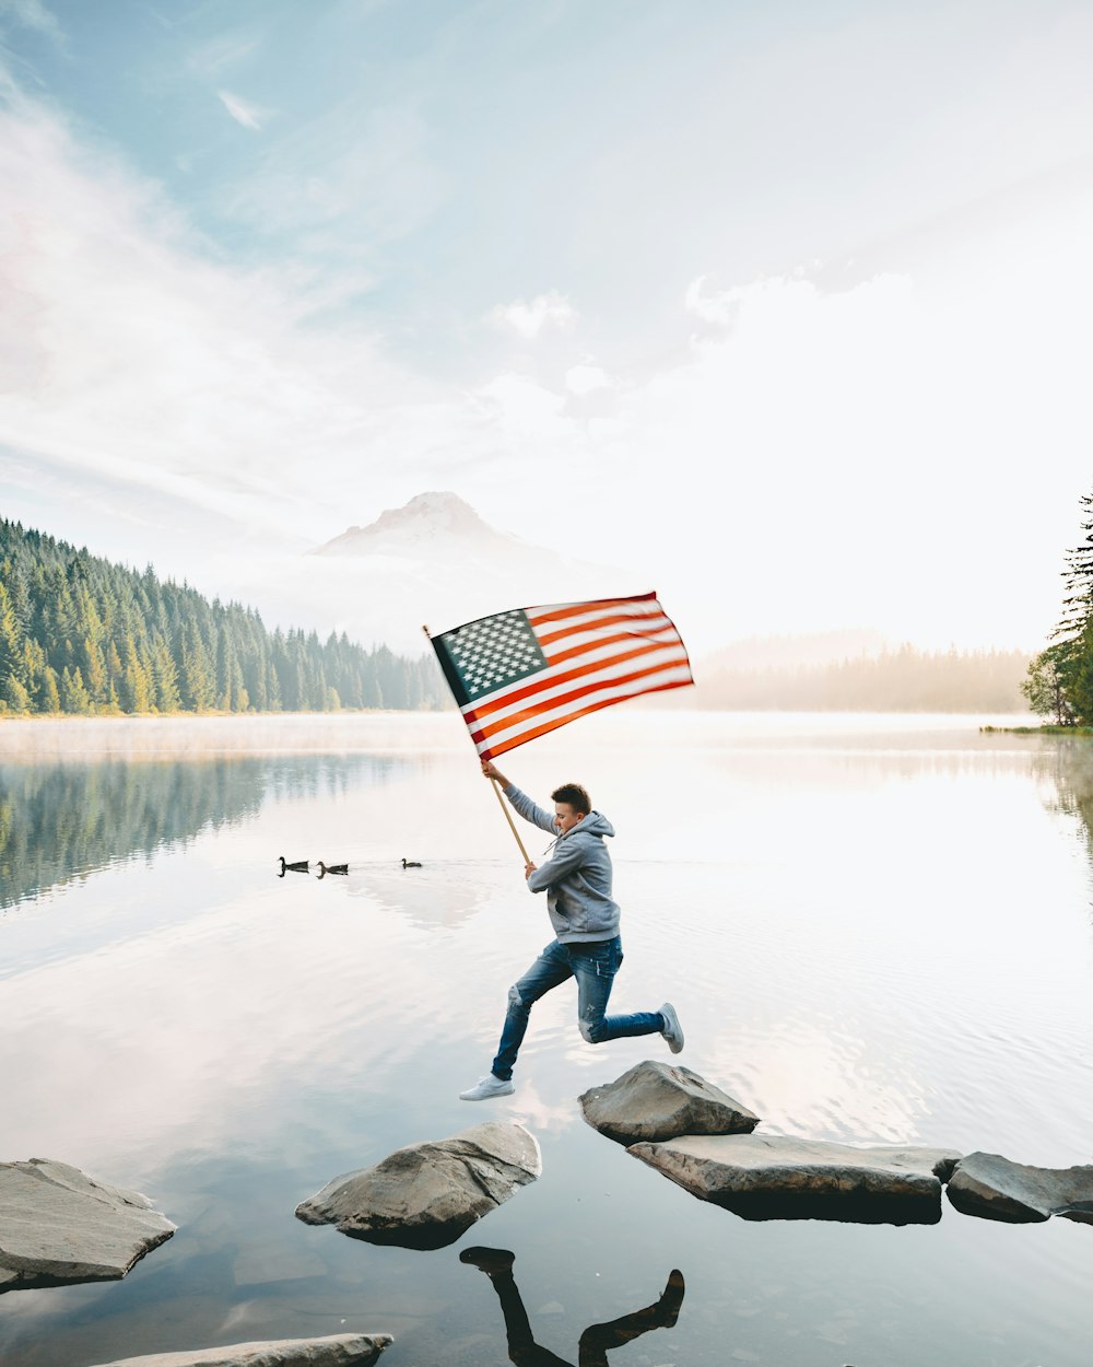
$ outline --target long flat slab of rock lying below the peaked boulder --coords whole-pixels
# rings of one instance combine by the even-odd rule
[[[858,1148],[777,1135],[684,1135],[633,1144],[628,1152],[700,1200],[746,1219],[870,1225],[936,1223],[941,1182],[960,1156],[945,1148]]]

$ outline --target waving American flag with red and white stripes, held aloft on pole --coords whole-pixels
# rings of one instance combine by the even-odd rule
[[[694,682],[654,593],[518,607],[430,640],[486,760],[601,707]]]

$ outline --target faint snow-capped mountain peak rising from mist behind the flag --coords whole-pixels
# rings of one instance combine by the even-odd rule
[[[279,574],[280,580],[281,576]],[[320,634],[346,632],[400,653],[511,607],[642,593],[633,571],[570,560],[499,532],[455,493],[418,493],[366,526],[350,526],[294,562],[288,582],[265,582],[276,617]]]

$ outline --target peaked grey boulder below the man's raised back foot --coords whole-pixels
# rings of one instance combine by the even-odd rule
[[[689,1068],[646,1058],[581,1096],[589,1125],[620,1144],[679,1135],[747,1135],[760,1122],[746,1106]]]

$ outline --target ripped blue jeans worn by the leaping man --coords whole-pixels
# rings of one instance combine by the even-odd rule
[[[490,1072],[506,1081],[512,1076],[516,1054],[527,1032],[531,1007],[552,987],[570,977],[577,979],[577,1024],[590,1044],[604,1044],[609,1039],[631,1035],[659,1035],[664,1029],[660,1012],[633,1012],[630,1016],[605,1016],[611,984],[623,962],[623,942],[616,935],[611,940],[590,945],[548,945],[523,977],[508,988],[508,1012],[501,1029],[501,1043]]]

